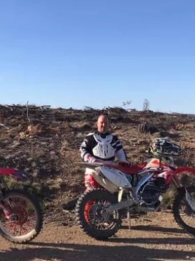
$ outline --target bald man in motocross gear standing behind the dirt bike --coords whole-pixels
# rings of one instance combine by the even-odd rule
[[[120,162],[130,165],[120,140],[116,135],[108,132],[108,127],[108,117],[100,115],[97,120],[97,131],[89,133],[80,146],[81,158],[88,163],[113,163],[117,158]],[[91,171],[90,168],[85,170],[85,187],[87,190],[96,186]]]

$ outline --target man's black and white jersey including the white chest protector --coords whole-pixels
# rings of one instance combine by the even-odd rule
[[[119,161],[127,161],[120,140],[111,133],[89,133],[80,146],[80,152],[83,161],[89,163],[96,160],[113,162],[115,157]]]

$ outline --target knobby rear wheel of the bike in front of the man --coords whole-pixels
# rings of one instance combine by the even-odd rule
[[[113,236],[121,226],[120,213],[114,211],[104,218],[102,211],[105,207],[116,202],[116,196],[104,189],[87,191],[81,195],[75,209],[76,220],[81,229],[99,240]]]

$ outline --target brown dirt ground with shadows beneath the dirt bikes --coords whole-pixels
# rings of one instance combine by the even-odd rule
[[[63,215],[63,214],[62,214]],[[48,221],[30,244],[17,245],[1,239],[1,261],[180,261],[195,260],[195,239],[183,232],[171,211],[149,213],[131,220],[115,237],[97,241],[76,225],[64,226],[63,216]]]

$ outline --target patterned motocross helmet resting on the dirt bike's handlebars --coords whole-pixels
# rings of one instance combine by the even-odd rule
[[[176,157],[181,154],[181,147],[167,139],[157,138],[152,141],[150,152],[156,157]]]

